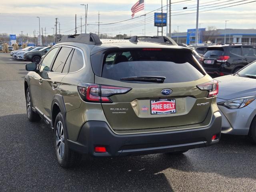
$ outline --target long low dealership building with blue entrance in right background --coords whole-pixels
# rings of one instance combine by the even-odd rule
[[[194,44],[196,30],[188,29],[187,32],[172,33],[172,38],[179,43]],[[199,29],[199,43],[256,43],[256,29],[217,29],[207,31]]]

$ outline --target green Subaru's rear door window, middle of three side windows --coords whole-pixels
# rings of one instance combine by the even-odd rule
[[[60,52],[58,53],[58,56],[56,57],[54,64],[52,66],[52,72],[61,73],[62,69],[66,65],[68,56],[70,52],[72,51],[72,48],[70,47],[62,47]],[[67,64],[68,65],[68,64]]]

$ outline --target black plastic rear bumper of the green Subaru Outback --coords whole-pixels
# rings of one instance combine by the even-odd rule
[[[88,121],[77,141],[68,140],[70,149],[92,156],[130,156],[165,153],[210,146],[220,140],[222,117],[215,112],[209,126],[189,130],[145,134],[115,134],[103,121]],[[212,141],[212,136],[217,139]],[[94,152],[95,146],[104,146],[107,152]]]

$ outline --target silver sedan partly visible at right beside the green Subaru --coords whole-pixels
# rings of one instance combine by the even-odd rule
[[[215,79],[219,81],[222,133],[248,135],[256,142],[256,62]]]

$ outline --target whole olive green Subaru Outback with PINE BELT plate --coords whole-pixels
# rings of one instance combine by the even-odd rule
[[[168,37],[64,36],[26,70],[28,120],[54,130],[62,167],[82,154],[182,153],[220,140],[218,82]]]

